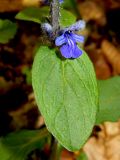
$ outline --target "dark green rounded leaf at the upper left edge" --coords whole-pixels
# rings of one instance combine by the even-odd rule
[[[7,43],[10,39],[14,38],[16,31],[16,23],[13,23],[7,19],[0,19],[0,43]]]

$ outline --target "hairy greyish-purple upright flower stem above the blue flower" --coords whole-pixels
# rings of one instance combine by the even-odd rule
[[[50,12],[51,12],[51,24],[53,27],[53,39],[56,37],[57,32],[59,30],[59,0],[52,0],[50,5]]]

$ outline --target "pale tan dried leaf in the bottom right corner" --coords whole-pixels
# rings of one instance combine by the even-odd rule
[[[84,146],[89,160],[120,160],[120,122],[101,125],[98,138],[91,137]]]

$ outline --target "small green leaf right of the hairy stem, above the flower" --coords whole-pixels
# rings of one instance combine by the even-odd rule
[[[71,12],[61,9],[60,25],[62,27],[68,27],[76,22],[76,17]]]

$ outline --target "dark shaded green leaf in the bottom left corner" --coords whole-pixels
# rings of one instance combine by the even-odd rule
[[[43,148],[46,143],[46,129],[39,131],[20,131],[0,139],[1,160],[25,160],[36,148]]]

